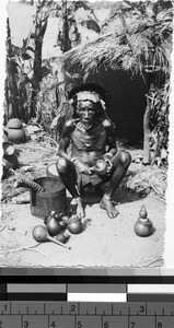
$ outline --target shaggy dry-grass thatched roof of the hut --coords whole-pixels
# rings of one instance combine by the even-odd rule
[[[80,65],[84,73],[96,71],[100,67],[121,68],[134,73],[143,70],[169,72],[172,19],[173,8],[161,10],[155,17],[155,24],[147,16],[129,21],[125,19],[127,28],[120,24],[119,28],[66,52],[66,68],[72,69]]]

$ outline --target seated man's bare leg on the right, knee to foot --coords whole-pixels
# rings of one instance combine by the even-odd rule
[[[109,180],[108,188],[104,194],[100,203],[101,208],[105,209],[107,215],[112,219],[119,214],[117,209],[112,203],[112,196],[115,192],[121,179],[124,178],[124,176],[126,175],[130,162],[131,162],[131,156],[126,151],[119,152],[112,159],[112,164],[113,164],[112,178]]]

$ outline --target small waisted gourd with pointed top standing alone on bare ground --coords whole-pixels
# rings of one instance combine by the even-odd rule
[[[134,226],[135,233],[140,237],[148,237],[153,234],[154,227],[152,222],[148,219],[148,212],[146,207],[142,204],[139,218]]]

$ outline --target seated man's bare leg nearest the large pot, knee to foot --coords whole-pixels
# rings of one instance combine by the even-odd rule
[[[80,198],[80,186],[78,186],[77,171],[73,163],[65,157],[59,157],[57,161],[57,171],[59,173],[60,179],[76,199],[77,202],[77,214],[84,218],[84,210],[82,207],[82,201]]]

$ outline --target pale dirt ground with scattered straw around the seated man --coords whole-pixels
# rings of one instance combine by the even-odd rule
[[[142,150],[129,148],[129,151],[132,163],[115,195],[119,215],[112,220],[98,203],[85,203],[83,232],[78,235],[68,232],[70,238],[66,245],[71,249],[66,249],[51,242],[38,244],[33,239],[33,227],[37,224],[44,225],[44,220],[31,214],[28,201],[15,203],[15,199],[23,195],[30,199],[30,191],[13,186],[18,177],[46,176],[48,163],[57,157],[56,145],[51,140],[38,138],[16,145],[16,152],[20,154],[19,168],[2,180],[0,266],[47,268],[163,266],[165,201],[160,191],[154,192],[154,188],[142,184],[143,177],[139,184],[143,185],[143,188],[132,190],[127,187],[131,185],[130,181],[135,176],[140,173],[147,176],[150,169],[142,165]],[[151,172],[151,175],[154,176],[154,172]],[[142,204],[146,206],[148,218],[155,229],[149,237],[139,237],[134,231]]]

